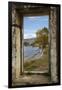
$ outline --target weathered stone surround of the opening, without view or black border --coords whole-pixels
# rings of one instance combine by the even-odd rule
[[[49,15],[49,71],[46,73],[46,79],[48,76],[48,80],[45,83],[58,82],[57,76],[57,12],[59,12],[58,6],[52,5],[41,5],[41,4],[30,4],[30,3],[11,3],[12,6],[12,22],[11,22],[11,31],[12,31],[12,82],[16,84],[20,83],[29,83],[19,82],[19,80],[24,79],[24,67],[23,67],[23,17],[24,16],[38,16],[38,15]],[[30,74],[30,73],[29,73]],[[38,73],[37,73],[38,74]],[[39,76],[39,74],[31,75],[31,77],[44,77],[43,73]],[[30,78],[30,75],[28,76]],[[25,78],[27,80],[27,77]],[[39,78],[40,79],[40,78]],[[46,80],[45,79],[45,80]],[[30,79],[29,79],[30,80]],[[22,80],[23,81],[23,80]],[[33,83],[36,80],[33,81]],[[39,83],[42,82],[39,81]],[[33,84],[32,83],[32,84]],[[14,85],[16,85],[14,84]],[[41,83],[40,83],[41,84]]]

